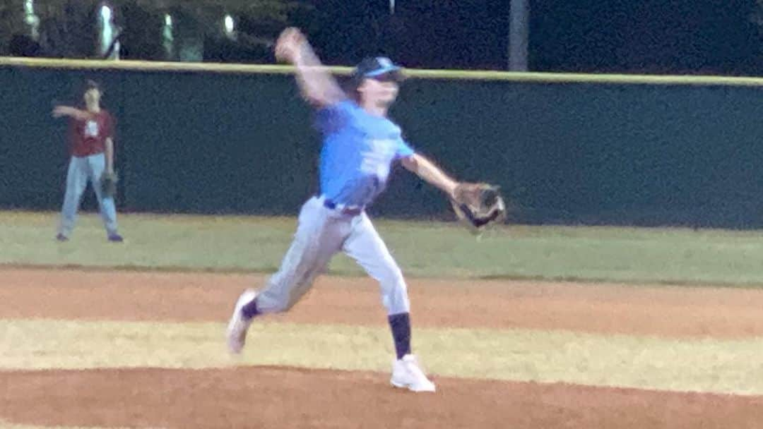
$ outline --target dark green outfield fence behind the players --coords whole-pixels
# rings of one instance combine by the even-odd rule
[[[66,64],[0,62],[3,208],[58,210],[68,158],[52,101],[76,101],[89,77],[118,119],[121,210],[293,215],[314,192],[319,142],[283,69]],[[763,226],[755,79],[412,75],[392,116],[456,177],[501,184],[510,222]],[[439,192],[402,169],[370,211],[452,219]]]

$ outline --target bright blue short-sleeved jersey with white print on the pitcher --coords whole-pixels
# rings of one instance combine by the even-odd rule
[[[367,206],[385,189],[392,162],[414,155],[400,127],[346,100],[317,112],[324,137],[320,150],[320,191],[348,206]]]

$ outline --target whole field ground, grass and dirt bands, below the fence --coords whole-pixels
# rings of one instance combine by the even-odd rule
[[[227,354],[294,218],[121,214],[115,244],[57,216],[0,213],[0,427],[758,427],[763,232],[378,219],[438,386],[412,399],[344,255]]]

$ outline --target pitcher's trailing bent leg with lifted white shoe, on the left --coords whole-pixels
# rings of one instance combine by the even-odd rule
[[[349,223],[332,216],[317,198],[307,200],[298,218],[294,239],[273,274],[259,292],[246,290],[233,308],[227,328],[228,347],[239,353],[246,330],[256,315],[291,309],[312,287],[315,277],[340,251]]]

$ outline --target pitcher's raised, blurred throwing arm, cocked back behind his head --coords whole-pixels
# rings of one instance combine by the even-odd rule
[[[297,28],[289,27],[282,31],[275,43],[275,58],[295,66],[298,85],[311,103],[323,107],[347,98]]]

